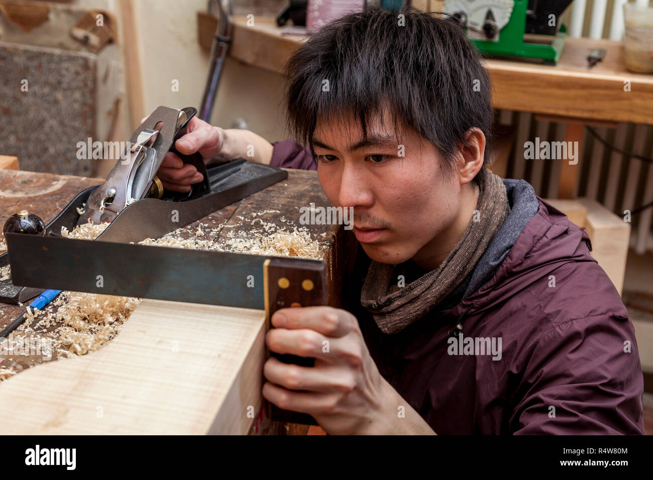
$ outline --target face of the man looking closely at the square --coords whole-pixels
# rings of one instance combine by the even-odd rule
[[[353,231],[367,255],[381,263],[412,258],[422,265],[446,257],[451,250],[447,229],[460,212],[458,176],[443,172],[438,150],[412,129],[404,136],[400,156],[388,113],[383,125],[368,125],[366,144],[360,125],[347,125],[352,126],[341,131],[319,121],[313,148],[328,200],[354,208]]]

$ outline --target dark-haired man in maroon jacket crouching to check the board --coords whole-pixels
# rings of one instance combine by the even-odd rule
[[[490,82],[464,32],[369,8],[323,27],[286,74],[300,144],[200,121],[176,144],[317,168],[354,209],[349,311],[279,310],[268,346],[315,366],[269,359],[264,396],[330,434],[642,434],[628,312],[587,234],[485,168]],[[201,179],[174,155],[160,174]]]

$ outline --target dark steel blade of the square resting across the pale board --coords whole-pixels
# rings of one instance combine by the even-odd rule
[[[24,285],[259,310],[263,263],[277,258],[18,233],[7,234],[7,242],[16,281]]]

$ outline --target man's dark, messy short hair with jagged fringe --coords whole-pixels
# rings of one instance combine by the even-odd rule
[[[318,119],[342,127],[343,119],[353,118],[366,140],[370,120],[382,121],[389,106],[396,137],[402,138],[400,123],[411,127],[441,152],[449,174],[471,127],[486,137],[488,165],[490,78],[477,48],[452,20],[413,8],[368,7],[311,35],[285,63],[285,75],[289,131],[314,156]]]

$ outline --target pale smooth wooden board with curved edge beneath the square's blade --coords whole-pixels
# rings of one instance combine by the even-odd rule
[[[1,434],[246,434],[264,312],[143,300],[102,349],[0,386]]]

